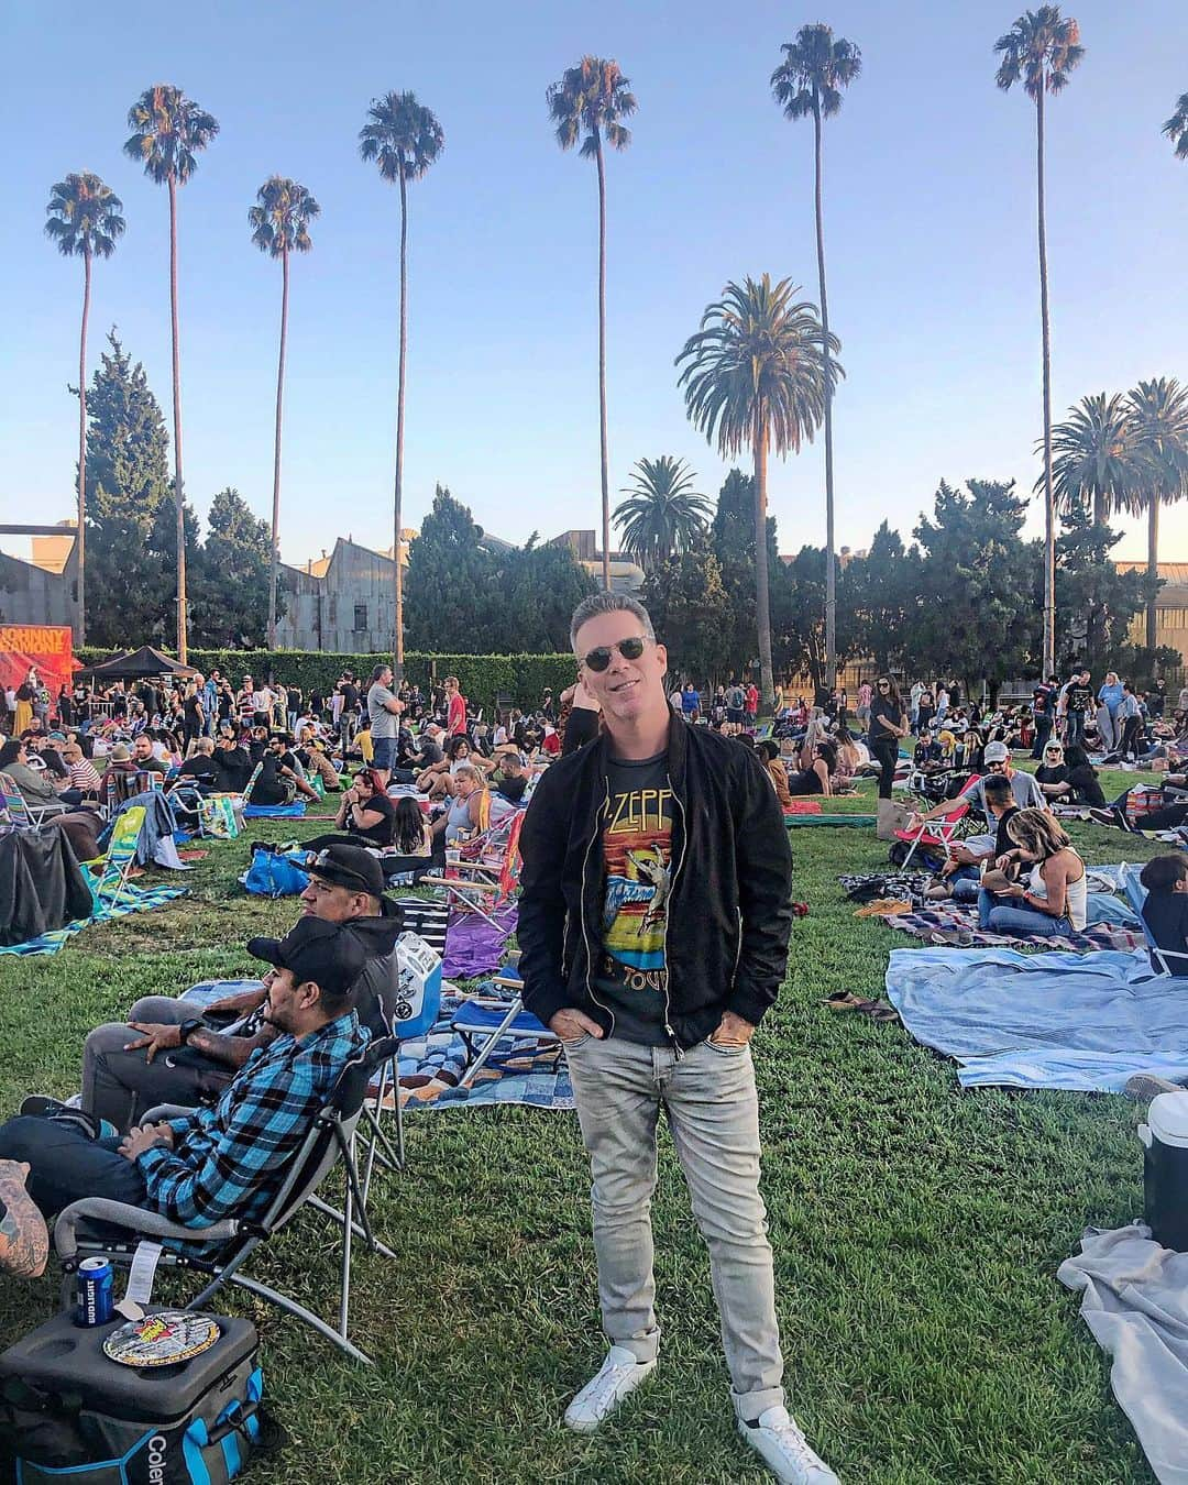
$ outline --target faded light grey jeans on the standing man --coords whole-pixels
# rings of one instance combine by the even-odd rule
[[[750,1047],[670,1047],[579,1037],[566,1042],[590,1154],[603,1329],[642,1362],[659,1347],[652,1274],[656,1127],[664,1106],[710,1249],[722,1344],[738,1415],[784,1402],[775,1274],[759,1195],[759,1097]]]

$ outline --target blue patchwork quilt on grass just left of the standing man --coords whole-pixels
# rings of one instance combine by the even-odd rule
[[[459,1087],[466,1071],[466,1048],[457,1032],[450,1031],[450,1020],[463,999],[462,995],[443,995],[441,1014],[429,1035],[401,1044],[401,1108],[524,1103],[530,1108],[572,1109],[573,1089],[564,1057],[558,1060],[555,1047],[538,1051],[530,1038],[500,1042],[472,1087]]]

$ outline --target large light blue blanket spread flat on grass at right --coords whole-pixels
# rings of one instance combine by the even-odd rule
[[[1121,1093],[1136,1072],[1188,1078],[1188,979],[1145,950],[892,949],[887,996],[962,1087]]]

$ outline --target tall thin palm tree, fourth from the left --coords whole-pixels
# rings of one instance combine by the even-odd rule
[[[396,683],[404,680],[404,365],[408,349],[408,181],[419,181],[446,147],[446,135],[429,108],[411,92],[374,98],[359,129],[359,154],[374,160],[380,177],[399,186],[399,371],[396,376],[396,480],[394,493],[392,557],[395,558],[396,633],[392,646]]]

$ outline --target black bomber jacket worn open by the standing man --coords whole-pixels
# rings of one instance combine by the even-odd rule
[[[573,1007],[613,1034],[613,1014],[593,986],[601,952],[606,750],[603,735],[552,763],[536,786],[520,836],[517,936],[527,1008],[548,1025]],[[759,1025],[775,1002],[792,934],[792,849],[775,790],[748,747],[673,713],[668,777],[665,1031],[688,1048],[725,1011]]]

